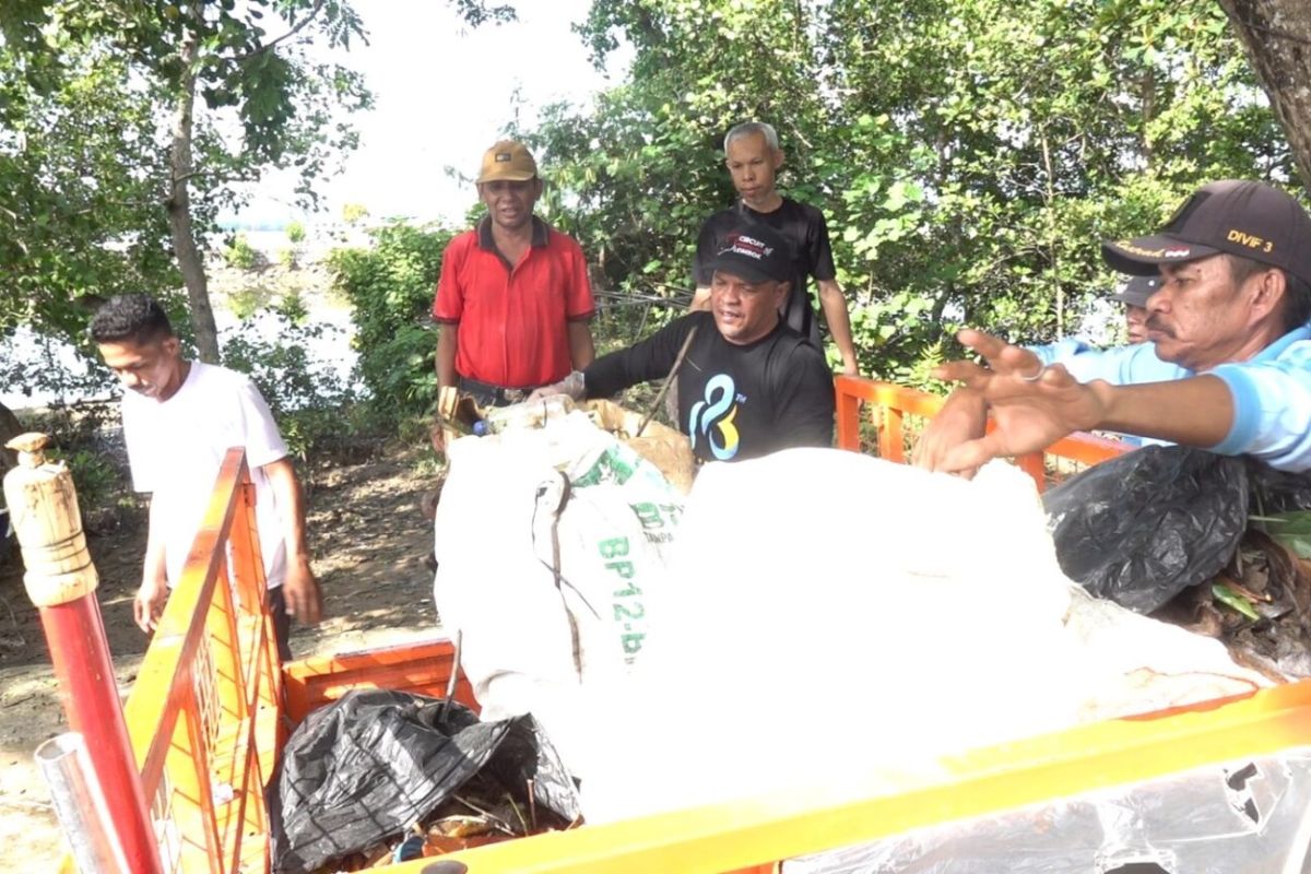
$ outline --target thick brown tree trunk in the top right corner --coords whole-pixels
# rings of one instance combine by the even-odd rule
[[[1311,4],[1219,1],[1289,138],[1302,185],[1311,191]]]

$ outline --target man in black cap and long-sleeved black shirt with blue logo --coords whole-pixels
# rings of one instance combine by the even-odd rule
[[[603,355],[534,398],[615,392],[678,370],[678,426],[704,461],[741,461],[832,444],[832,376],[823,354],[783,324],[792,266],[787,242],[743,224],[708,262],[711,312],[694,312],[635,346]]]

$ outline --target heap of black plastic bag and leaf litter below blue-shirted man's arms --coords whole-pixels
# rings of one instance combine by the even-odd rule
[[[1091,594],[1218,638],[1273,681],[1311,676],[1311,480],[1147,447],[1044,503],[1062,570]]]

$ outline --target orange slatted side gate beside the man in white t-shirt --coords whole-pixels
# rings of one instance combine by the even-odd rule
[[[229,449],[125,705],[166,871],[269,870],[282,674],[254,532],[245,453]]]

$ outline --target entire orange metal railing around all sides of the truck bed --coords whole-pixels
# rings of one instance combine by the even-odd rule
[[[836,392],[838,444],[860,448],[868,426],[874,448],[893,460],[905,457],[905,417],[932,415],[941,404],[844,376],[836,379]],[[1041,487],[1053,459],[1095,464],[1124,451],[1113,440],[1076,435],[1050,447],[1045,459],[1036,455],[1021,464]],[[165,870],[267,871],[262,790],[284,742],[283,726],[353,688],[442,694],[455,670],[450,641],[434,639],[303,659],[279,671],[261,598],[252,503],[243,455],[233,449],[127,702]],[[222,561],[225,550],[228,562]],[[473,704],[463,677],[458,697]],[[1308,744],[1311,681],[1303,681],[973,751],[947,763],[949,777],[907,782],[895,793],[851,797],[815,786],[513,840],[389,870],[763,874],[805,853]]]

